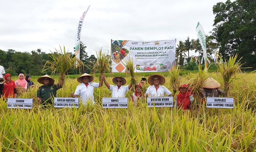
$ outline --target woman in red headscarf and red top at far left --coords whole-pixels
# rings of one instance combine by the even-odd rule
[[[4,85],[3,85],[3,99],[7,98],[17,98],[17,93],[16,93],[16,84],[14,81],[12,81],[12,76],[7,73],[4,75]]]

